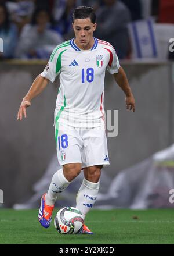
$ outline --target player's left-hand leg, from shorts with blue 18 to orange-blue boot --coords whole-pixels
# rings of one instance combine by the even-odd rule
[[[81,152],[77,136],[77,131],[74,129],[70,129],[66,125],[59,125],[56,140],[57,157],[63,168],[53,175],[48,192],[41,199],[38,218],[44,227],[50,226],[53,208],[59,193],[64,191],[81,172]]]

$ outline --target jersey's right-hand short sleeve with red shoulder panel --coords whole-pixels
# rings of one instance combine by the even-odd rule
[[[107,70],[110,74],[118,73],[120,64],[115,49],[113,47],[110,47],[110,49],[107,50],[110,54],[110,60],[107,65]]]

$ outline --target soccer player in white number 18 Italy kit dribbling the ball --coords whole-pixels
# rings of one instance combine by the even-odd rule
[[[109,17],[108,17],[109,19]],[[49,227],[59,193],[84,172],[76,207],[86,214],[99,191],[103,165],[109,165],[104,122],[104,76],[107,69],[126,94],[126,108],[135,111],[135,99],[109,42],[93,37],[96,15],[90,7],[80,6],[72,15],[75,38],[63,42],[52,52],[48,65],[34,80],[21,102],[17,120],[26,117],[31,99],[41,93],[49,81],[60,74],[60,88],[55,109],[57,157],[61,169],[53,175],[48,192],[41,198],[39,222]],[[79,234],[93,234],[84,224]]]

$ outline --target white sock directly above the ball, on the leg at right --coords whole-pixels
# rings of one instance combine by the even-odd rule
[[[76,208],[82,212],[85,219],[86,214],[93,207],[99,192],[100,182],[89,182],[84,178],[76,197]]]

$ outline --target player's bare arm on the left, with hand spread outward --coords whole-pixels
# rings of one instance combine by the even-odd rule
[[[32,98],[34,98],[38,94],[40,94],[44,90],[44,88],[47,86],[48,82],[49,82],[49,80],[45,77],[42,77],[41,74],[39,74],[39,76],[37,76],[37,78],[32,83],[30,90],[28,91],[28,93],[23,98],[23,101],[20,104],[20,108],[17,113],[17,120],[22,120],[23,115],[25,116],[25,118],[27,117],[26,108],[28,106],[31,106]]]

